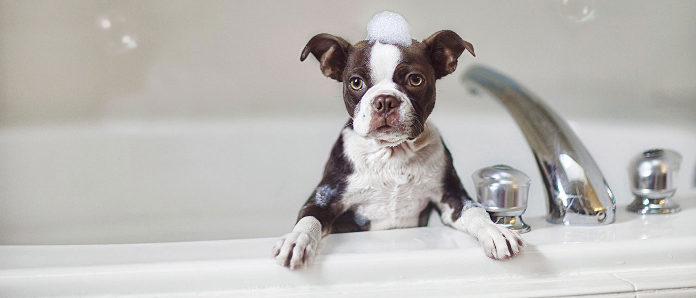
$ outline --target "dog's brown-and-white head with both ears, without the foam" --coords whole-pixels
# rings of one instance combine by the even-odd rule
[[[435,105],[435,82],[454,72],[457,59],[473,46],[449,30],[418,42],[365,40],[350,44],[315,35],[300,56],[312,53],[322,74],[343,83],[343,100],[356,133],[396,145],[423,131]]]

